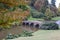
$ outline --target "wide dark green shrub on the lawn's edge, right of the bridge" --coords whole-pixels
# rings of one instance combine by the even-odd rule
[[[58,24],[56,23],[47,23],[47,24],[43,24],[41,29],[56,30],[59,29],[59,27]]]

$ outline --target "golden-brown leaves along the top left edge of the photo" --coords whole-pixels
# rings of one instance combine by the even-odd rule
[[[12,6],[18,6],[20,4],[25,5],[25,0],[0,0],[1,3],[4,3],[10,7]]]

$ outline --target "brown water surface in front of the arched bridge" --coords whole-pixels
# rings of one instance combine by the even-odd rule
[[[33,26],[30,26],[30,27],[29,26],[15,26],[15,27],[13,27],[11,29],[6,29],[6,30],[0,31],[0,40],[5,38],[9,33],[11,33],[11,34],[19,34],[24,30],[30,31],[30,32],[35,32],[38,29],[34,28]]]

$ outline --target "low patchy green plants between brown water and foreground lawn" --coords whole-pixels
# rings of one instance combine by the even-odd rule
[[[18,37],[28,37],[28,36],[32,36],[32,32],[23,31],[20,34],[8,34],[6,36],[6,39],[14,39],[14,38],[18,38]]]

